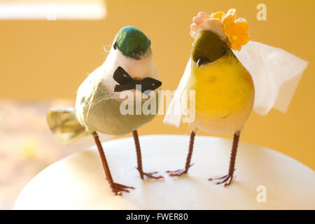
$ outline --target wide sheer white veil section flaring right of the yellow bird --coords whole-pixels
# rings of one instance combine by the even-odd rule
[[[233,52],[253,78],[255,112],[264,116],[274,108],[286,113],[308,62],[280,48],[255,41]]]

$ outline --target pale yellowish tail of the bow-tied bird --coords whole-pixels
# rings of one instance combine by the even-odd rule
[[[47,122],[61,144],[70,144],[89,134],[80,125],[72,108],[52,109],[47,113]]]

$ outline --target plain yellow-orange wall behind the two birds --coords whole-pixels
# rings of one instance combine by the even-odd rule
[[[267,21],[256,19],[258,3],[267,5]],[[190,54],[193,16],[237,8],[238,17],[248,20],[252,40],[309,61],[288,112],[252,113],[241,141],[273,148],[315,169],[315,1],[106,1],[106,6],[104,20],[0,21],[0,97],[74,100],[78,85],[106,58],[103,46],[109,48],[126,25],[150,36],[162,88],[175,90]],[[139,134],[189,133],[187,125],[177,129],[162,118],[141,127]]]

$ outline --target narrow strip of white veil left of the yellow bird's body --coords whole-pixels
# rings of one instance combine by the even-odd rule
[[[179,127],[179,125],[181,124],[181,117],[183,116],[181,111],[181,92],[183,92],[183,89],[185,88],[186,83],[188,82],[190,68],[191,58],[189,58],[187,62],[186,69],[183,73],[183,76],[181,77],[179,86],[177,87],[174,97],[171,103],[169,104],[169,107],[167,108],[167,113],[163,120],[164,123],[167,123],[169,125],[175,125],[176,127]]]

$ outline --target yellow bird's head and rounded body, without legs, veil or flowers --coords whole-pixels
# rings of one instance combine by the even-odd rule
[[[253,109],[251,75],[212,31],[197,36],[191,58],[184,91],[195,90],[192,126],[211,134],[241,130]]]

